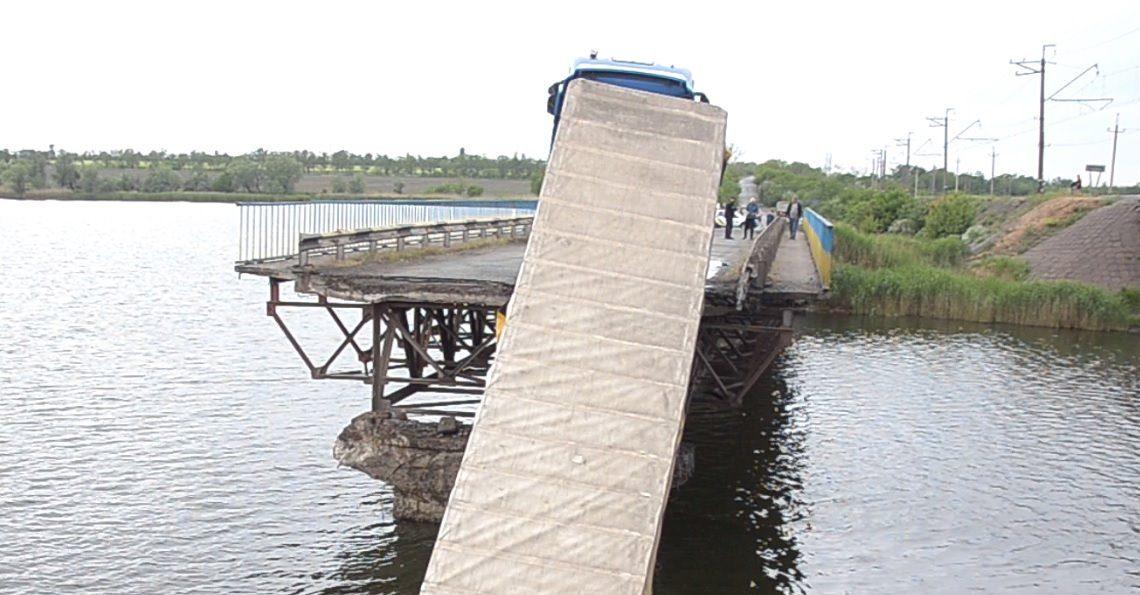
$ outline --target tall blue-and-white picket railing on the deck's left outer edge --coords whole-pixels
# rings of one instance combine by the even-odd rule
[[[238,203],[237,261],[271,262],[296,258],[302,235],[388,228],[416,223],[511,218],[531,209],[388,201],[296,201]]]

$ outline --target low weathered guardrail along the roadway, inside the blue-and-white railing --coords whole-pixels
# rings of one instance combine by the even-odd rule
[[[530,235],[534,220],[534,215],[522,215],[302,235],[298,244],[298,262],[307,266],[314,256],[332,255],[335,260],[344,260],[350,254],[401,252],[408,247],[446,248],[481,238],[519,239]]]

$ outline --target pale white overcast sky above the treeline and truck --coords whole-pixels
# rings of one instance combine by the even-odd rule
[[[0,146],[244,153],[545,156],[546,88],[591,49],[676,64],[728,112],[744,160],[871,166],[912,133],[915,162],[1036,172],[1037,76],[1047,95],[1112,97],[1102,111],[1047,105],[1045,177],[1107,164],[1140,182],[1140,5],[1060,2],[18,2],[5,33]],[[795,6],[792,6],[795,5]],[[928,141],[929,139],[929,141]],[[1106,174],[1107,176],[1107,174]]]

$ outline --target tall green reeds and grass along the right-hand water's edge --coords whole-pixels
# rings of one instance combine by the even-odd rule
[[[922,241],[836,228],[831,301],[861,315],[920,316],[1054,328],[1125,331],[1140,324],[1134,296],[1069,282],[1025,282],[1024,263],[966,267],[956,238]]]

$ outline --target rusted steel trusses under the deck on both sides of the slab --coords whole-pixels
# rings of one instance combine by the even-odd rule
[[[479,402],[495,353],[495,319],[490,307],[412,302],[284,301],[279,279],[269,282],[266,313],[277,323],[309,374],[318,380],[349,380],[372,386],[372,407],[397,404],[420,391],[456,394],[435,401],[447,407]],[[328,313],[341,341],[318,360],[279,315],[284,308]],[[357,310],[358,313],[350,313]],[[709,307],[701,320],[693,360],[691,391],[712,405],[740,407],[775,358],[792,341],[792,311]],[[351,356],[350,356],[351,354]],[[350,368],[345,360],[353,359]],[[438,413],[438,411],[437,411]]]

